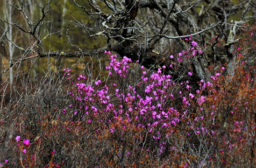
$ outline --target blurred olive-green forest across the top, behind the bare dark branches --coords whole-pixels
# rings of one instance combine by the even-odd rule
[[[135,29],[138,37],[133,36],[130,38],[127,36],[127,39],[129,38],[134,40],[142,38],[143,34],[145,36],[148,35],[147,38],[149,39],[154,35],[156,36],[160,34],[160,31],[156,33],[156,29],[161,29],[160,26],[161,22],[164,21],[164,15],[160,13],[157,14],[157,11],[161,11],[156,7],[150,7],[151,4],[149,4],[149,2],[158,3],[164,8],[167,7],[165,4],[167,2],[164,0],[154,0],[152,2],[150,0],[133,0],[131,2],[134,4],[140,2],[142,5],[145,5],[139,5],[142,7],[138,7],[138,11],[135,16],[137,26],[141,26],[138,31]],[[227,55],[227,53],[223,54],[223,51],[226,52],[224,45],[228,42],[230,30],[234,25],[237,25],[235,27],[237,37],[235,37],[236,39],[234,42],[234,44],[236,44],[239,42],[239,40],[237,40],[238,38],[243,38],[245,36],[243,30],[249,30],[249,26],[255,21],[255,2],[251,0],[216,0],[214,2],[208,0],[174,0],[168,2],[169,4],[167,3],[167,9],[169,9],[174,2],[184,10],[183,13],[188,13],[189,16],[195,18],[194,21],[197,22],[196,26],[200,28],[200,30],[204,30],[204,28],[209,29],[207,31],[202,31],[203,38],[201,38],[201,34],[199,34],[201,39],[198,38],[199,36],[195,36],[195,39],[200,41],[201,46],[207,45],[212,48],[207,50],[208,58],[205,63],[208,62],[208,65],[216,65],[218,61],[222,64],[224,64],[224,62],[228,63],[224,56],[221,58],[221,55]],[[111,1],[107,2],[106,0],[1,0],[1,81],[5,80],[7,76],[11,76],[11,78],[13,78],[12,73],[17,70],[17,68],[20,70],[28,69],[27,62],[23,62],[22,59],[31,56],[33,52],[36,52],[37,56],[36,59],[30,60],[33,62],[33,70],[30,70],[30,73],[31,77],[39,77],[42,71],[45,72],[49,68],[57,70],[61,64],[62,67],[64,67],[68,64],[77,63],[77,61],[82,64],[86,62],[86,58],[83,54],[79,56],[64,56],[64,54],[62,54],[61,56],[58,55],[52,58],[45,57],[37,59],[40,53],[50,53],[53,51],[89,51],[101,49],[104,46],[107,46],[107,48],[111,50],[111,45],[114,43],[121,43],[120,39],[116,39],[116,37],[114,37],[114,35],[117,35],[113,33],[114,29],[111,29],[109,26],[104,27],[104,25],[102,25],[102,22],[106,20],[106,18],[102,18],[103,14],[109,16],[111,14],[114,14],[115,16],[119,14],[117,12],[113,13],[111,7],[107,5],[110,3]],[[123,3],[123,5],[121,5],[121,3]],[[117,7],[119,8],[119,11],[125,9],[125,3],[127,2],[119,0],[120,6]],[[96,8],[100,8],[101,11],[95,11],[95,6]],[[83,7],[88,9],[91,14],[88,14],[88,11],[86,12]],[[176,12],[176,14],[178,13]],[[120,12],[120,17],[127,16],[124,16]],[[166,30],[164,30],[164,32],[162,30],[161,33],[166,34],[166,36],[162,35],[159,37],[160,40],[157,40],[157,42],[154,43],[153,47],[150,46],[151,53],[149,54],[154,55],[156,53],[161,53],[161,57],[169,56],[171,54],[181,52],[185,47],[187,47],[182,44],[178,38],[170,38],[168,35],[173,37],[179,35],[190,35],[198,32],[199,30],[196,30],[197,28],[191,28],[192,25],[183,21],[182,18],[180,18],[181,16],[178,17],[179,18],[176,23],[171,22],[171,24],[165,24],[163,26]],[[238,23],[235,23],[235,21]],[[120,25],[121,28],[126,26],[122,25],[125,24],[124,21],[122,21],[121,24],[118,22],[119,20],[116,20],[116,23],[113,21],[111,23],[110,21],[109,24],[114,25],[114,28],[118,25]],[[178,29],[174,25],[177,25]],[[214,28],[210,28],[211,26],[214,26]],[[107,34],[107,31],[112,32]],[[122,30],[120,32],[122,32]],[[151,37],[149,37],[150,35]],[[235,35],[234,32],[233,35]],[[210,42],[209,40],[212,40],[213,38],[216,38],[216,40]],[[113,42],[113,39],[115,42]],[[111,40],[112,42],[110,42]],[[137,45],[143,43],[142,40],[137,42],[139,42]],[[249,42],[248,44],[250,45],[251,43]],[[251,47],[248,46],[247,48],[250,49]],[[152,52],[152,50],[154,50],[154,52]],[[102,50],[100,50],[100,52],[102,53]],[[97,55],[97,51],[92,53]],[[120,52],[117,51],[117,53]],[[132,58],[135,60],[138,59],[139,56]],[[22,60],[20,63],[15,63],[14,66],[10,66],[13,65],[15,60],[19,59]],[[223,61],[223,59],[225,61]],[[156,62],[156,59],[154,59],[153,62]],[[49,63],[51,66],[49,66]],[[142,63],[141,60],[140,63]],[[152,68],[149,64],[153,63],[145,63],[148,64],[148,68]],[[19,65],[17,66],[17,64]],[[206,69],[207,66],[205,70]],[[205,78],[203,75],[199,74],[199,76],[201,78]]]

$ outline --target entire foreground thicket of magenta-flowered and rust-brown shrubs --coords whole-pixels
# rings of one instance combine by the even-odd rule
[[[234,69],[195,87],[185,67],[204,51],[190,40],[156,71],[105,51],[100,75],[64,68],[2,107],[1,166],[255,167],[256,67],[237,49]]]

